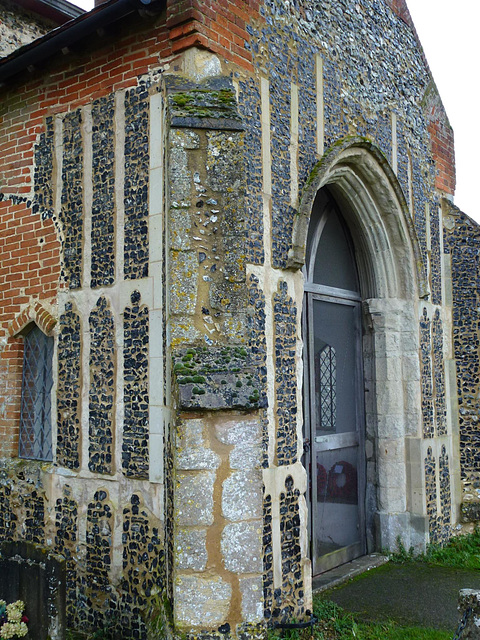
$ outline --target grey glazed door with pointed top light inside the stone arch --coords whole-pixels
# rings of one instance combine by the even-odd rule
[[[315,199],[306,257],[304,437],[318,575],[366,551],[360,286],[349,230],[326,188]]]

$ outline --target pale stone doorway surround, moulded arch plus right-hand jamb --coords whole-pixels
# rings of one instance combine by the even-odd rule
[[[428,296],[420,248],[400,185],[369,141],[348,138],[312,171],[301,195],[289,268],[305,261],[310,213],[324,186],[336,199],[355,244],[363,294],[368,551],[428,542],[418,387],[418,306]],[[369,505],[372,505],[369,507]]]

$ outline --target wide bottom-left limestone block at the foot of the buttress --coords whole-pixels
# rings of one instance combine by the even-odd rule
[[[175,581],[175,623],[216,628],[228,615],[231,586],[220,577],[181,575]]]

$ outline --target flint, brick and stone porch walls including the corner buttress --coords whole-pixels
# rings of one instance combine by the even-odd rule
[[[445,540],[458,511],[439,214],[451,131],[404,7],[224,4],[169,3],[0,107],[0,225],[14,231],[2,247],[0,536],[65,556],[69,624],[98,627],[106,610],[126,637],[145,634],[139,610],[155,594],[205,638],[261,635],[311,606],[303,280],[290,255],[318,161],[353,137],[398,179],[427,289],[386,301],[399,344],[372,339],[388,356],[382,424],[401,431],[389,437],[407,490],[382,476],[372,422],[371,548],[397,532],[417,547]],[[39,321],[36,302],[56,321],[55,465],[15,459],[15,322]]]

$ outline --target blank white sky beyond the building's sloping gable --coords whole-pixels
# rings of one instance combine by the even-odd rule
[[[407,0],[430,69],[455,132],[455,204],[480,222],[475,156],[480,149],[478,82],[480,0]],[[94,0],[74,0],[92,9]],[[475,94],[475,97],[474,97]]]

